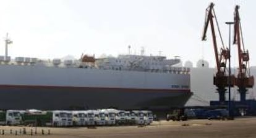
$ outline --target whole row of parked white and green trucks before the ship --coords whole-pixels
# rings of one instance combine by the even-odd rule
[[[1,125],[31,126],[113,126],[151,124],[153,113],[149,110],[6,110],[0,111]]]

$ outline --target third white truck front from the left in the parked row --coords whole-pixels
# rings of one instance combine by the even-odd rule
[[[87,117],[85,111],[72,111],[72,121],[74,126],[85,126]]]

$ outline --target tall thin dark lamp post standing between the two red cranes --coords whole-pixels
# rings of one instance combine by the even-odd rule
[[[228,65],[228,78],[229,78],[229,83],[228,83],[228,114],[229,117],[231,117],[231,63],[230,63],[230,57],[231,57],[231,25],[234,24],[234,22],[226,22],[227,25],[229,25],[229,65]],[[233,115],[232,115],[233,117]]]

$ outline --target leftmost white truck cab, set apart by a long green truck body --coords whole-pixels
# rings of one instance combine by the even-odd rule
[[[20,115],[20,110],[6,111],[6,125],[19,125],[21,121],[22,116]]]

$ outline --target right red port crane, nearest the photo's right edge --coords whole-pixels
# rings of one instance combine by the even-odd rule
[[[234,41],[233,44],[237,45],[239,71],[236,77],[235,85],[239,88],[241,102],[245,101],[247,88],[254,86],[254,76],[250,75],[249,67],[249,52],[245,51],[244,39],[242,36],[241,20],[239,16],[239,6],[235,7],[234,11]]]

